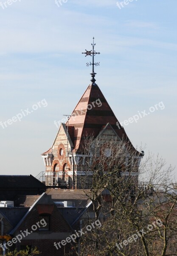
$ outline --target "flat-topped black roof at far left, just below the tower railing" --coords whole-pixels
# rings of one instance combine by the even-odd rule
[[[45,188],[45,185],[32,175],[0,175],[0,189],[2,188]]]

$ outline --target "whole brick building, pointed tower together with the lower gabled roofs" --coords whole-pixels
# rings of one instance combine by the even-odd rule
[[[84,154],[84,138],[93,136],[94,140],[101,137],[102,151],[109,154],[105,141],[114,140],[119,143],[124,140],[134,151],[140,163],[143,154],[138,152],[130,142],[123,127],[113,113],[98,85],[95,83],[94,71],[91,74],[91,84],[81,96],[67,122],[61,123],[55,140],[48,151],[42,153],[45,171],[37,178],[2,177],[0,188],[1,201],[13,201],[13,207],[0,208],[2,235],[12,237],[22,236],[23,230],[29,230],[28,236],[11,245],[11,248],[22,249],[37,246],[41,256],[63,256],[71,252],[72,244],[68,243],[60,250],[54,247],[54,242],[61,242],[75,230],[81,229],[82,221],[94,218],[92,202],[81,190],[81,180],[85,177],[87,161],[92,161],[91,154]],[[128,155],[124,171],[128,165]],[[138,181],[138,167],[134,173]],[[20,183],[21,179],[21,183]],[[1,181],[1,178],[0,178]],[[30,181],[30,182],[28,182]],[[6,184],[8,183],[8,189]],[[90,191],[92,177],[87,177],[87,193]],[[107,191],[103,192],[104,202],[110,204],[111,198]],[[45,220],[46,225],[40,222]],[[35,230],[31,230],[34,226]],[[32,231],[32,232],[31,232]],[[4,253],[4,251],[3,251]]]

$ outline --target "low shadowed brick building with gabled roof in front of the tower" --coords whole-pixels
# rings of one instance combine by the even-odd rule
[[[11,239],[6,245],[3,243],[2,253],[7,249],[22,250],[27,245],[29,248],[37,247],[41,256],[63,256],[64,250],[66,253],[70,251],[71,244],[62,246],[58,251],[53,245],[70,236],[73,229],[46,193],[21,196],[18,207],[0,208],[0,218],[3,220],[2,235],[8,234],[16,239]]]

